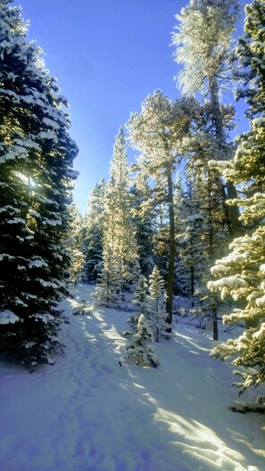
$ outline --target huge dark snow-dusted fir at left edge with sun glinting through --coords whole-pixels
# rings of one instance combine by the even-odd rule
[[[67,204],[77,146],[66,99],[26,41],[21,9],[0,1],[0,338],[31,366],[60,349],[57,303],[67,293]]]

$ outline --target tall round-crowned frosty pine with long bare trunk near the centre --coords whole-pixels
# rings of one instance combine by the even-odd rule
[[[147,96],[141,113],[132,113],[128,121],[130,145],[141,154],[137,158],[139,178],[152,179],[153,194],[145,202],[147,211],[166,205],[168,219],[167,311],[169,331],[172,322],[175,216],[173,175],[181,156],[181,143],[188,136],[198,106],[193,98],[182,98],[174,103],[156,90]]]

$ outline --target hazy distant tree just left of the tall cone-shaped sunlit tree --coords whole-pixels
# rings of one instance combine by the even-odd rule
[[[83,246],[86,258],[84,279],[87,283],[95,282],[102,268],[105,191],[106,184],[103,179],[89,194],[84,218]]]

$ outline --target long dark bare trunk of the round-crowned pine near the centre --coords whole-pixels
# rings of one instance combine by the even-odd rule
[[[170,219],[170,254],[167,279],[167,323],[170,325],[168,332],[171,332],[172,311],[173,311],[173,285],[174,285],[174,264],[175,264],[175,217],[173,202],[173,182],[172,174],[168,173],[168,192],[169,192],[169,219]]]

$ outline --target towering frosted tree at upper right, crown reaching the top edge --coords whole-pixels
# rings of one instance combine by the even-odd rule
[[[237,0],[191,0],[176,15],[177,32],[172,34],[176,46],[175,61],[184,64],[178,74],[178,85],[186,95],[200,91],[203,99],[209,99],[214,132],[218,143],[218,160],[231,155],[225,131],[226,107],[219,101],[220,92],[231,88],[232,41],[235,32],[239,5]],[[214,155],[216,158],[216,154]],[[221,181],[220,181],[221,183]],[[223,196],[236,197],[236,188],[228,181],[223,186]],[[240,233],[239,211],[228,208],[228,229],[230,236]]]

